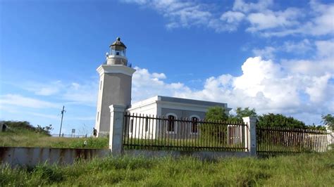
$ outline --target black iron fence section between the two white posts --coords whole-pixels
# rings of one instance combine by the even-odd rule
[[[243,122],[126,113],[124,124],[124,149],[247,151]]]

